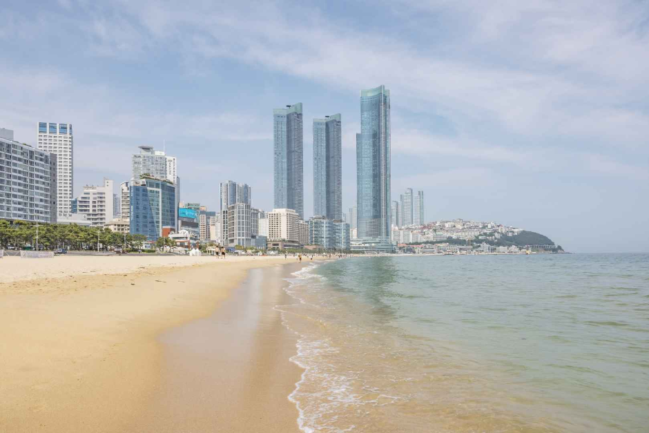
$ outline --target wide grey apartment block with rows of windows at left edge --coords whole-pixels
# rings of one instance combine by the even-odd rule
[[[55,153],[0,138],[0,219],[57,222]]]

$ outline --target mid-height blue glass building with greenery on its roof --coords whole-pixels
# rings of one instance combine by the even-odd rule
[[[162,229],[177,231],[177,186],[166,180],[140,179],[130,185],[130,233],[154,241]]]

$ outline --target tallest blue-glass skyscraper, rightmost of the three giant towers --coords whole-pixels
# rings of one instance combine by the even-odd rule
[[[393,251],[390,242],[390,93],[361,90],[356,134],[358,241],[352,249]]]

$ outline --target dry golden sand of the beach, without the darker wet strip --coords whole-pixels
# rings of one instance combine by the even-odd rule
[[[25,261],[33,266],[41,260],[48,259]],[[77,258],[49,260],[72,271],[64,269],[66,278],[38,278],[43,273],[32,271],[31,278],[0,280],[0,430],[125,431],[142,419],[164,385],[167,358],[160,336],[218,316],[251,269],[300,265],[274,257],[211,258],[171,267],[138,262],[106,274],[75,268]],[[113,260],[95,257],[93,266]],[[293,367],[288,357],[284,361]],[[296,418],[291,421],[298,431]],[[155,430],[145,424],[142,431]]]

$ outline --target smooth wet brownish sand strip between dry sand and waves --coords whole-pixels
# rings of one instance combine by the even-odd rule
[[[275,305],[300,264],[252,269],[209,318],[166,331],[162,381],[137,432],[299,432],[288,400],[302,369],[289,362],[296,335]]]

